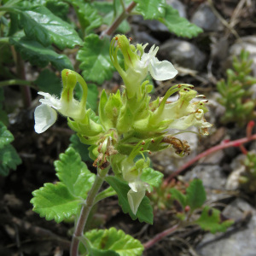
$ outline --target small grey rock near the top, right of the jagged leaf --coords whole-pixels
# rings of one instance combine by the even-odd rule
[[[221,22],[207,3],[202,3],[195,11],[191,18],[191,22],[196,26],[200,26],[206,32],[217,32],[223,28]]]

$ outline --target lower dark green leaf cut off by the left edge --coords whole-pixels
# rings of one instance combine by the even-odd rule
[[[16,170],[16,167],[21,164],[20,156],[15,148],[11,145],[5,145],[0,148],[0,174],[8,175],[9,169]]]

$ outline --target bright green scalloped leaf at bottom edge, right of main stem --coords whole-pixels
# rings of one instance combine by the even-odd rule
[[[110,228],[109,230],[90,230],[84,236],[89,239],[93,248],[115,252],[115,254],[91,254],[94,256],[139,256],[143,254],[144,247],[142,243],[130,235],[125,235],[123,230],[116,230],[115,228]]]

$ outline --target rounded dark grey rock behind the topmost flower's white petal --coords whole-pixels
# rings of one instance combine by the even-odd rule
[[[194,70],[205,67],[206,55],[194,44],[182,40],[167,40],[160,46],[159,55],[172,63]]]

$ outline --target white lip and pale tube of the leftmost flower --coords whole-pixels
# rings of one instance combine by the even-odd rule
[[[79,102],[72,99],[67,102],[63,99],[57,99],[55,96],[51,96],[49,93],[39,91],[39,95],[44,96],[39,102],[39,105],[35,110],[35,131],[42,133],[46,131],[51,125],[54,125],[57,119],[57,110],[64,116],[71,117],[73,119],[81,119],[84,117],[85,109],[81,109]]]

